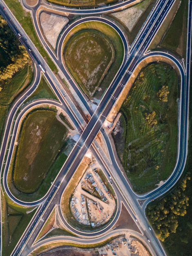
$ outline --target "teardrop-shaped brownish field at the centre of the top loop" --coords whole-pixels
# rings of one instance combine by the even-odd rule
[[[64,48],[68,69],[90,97],[99,87],[114,61],[114,47],[96,30],[81,30]]]

